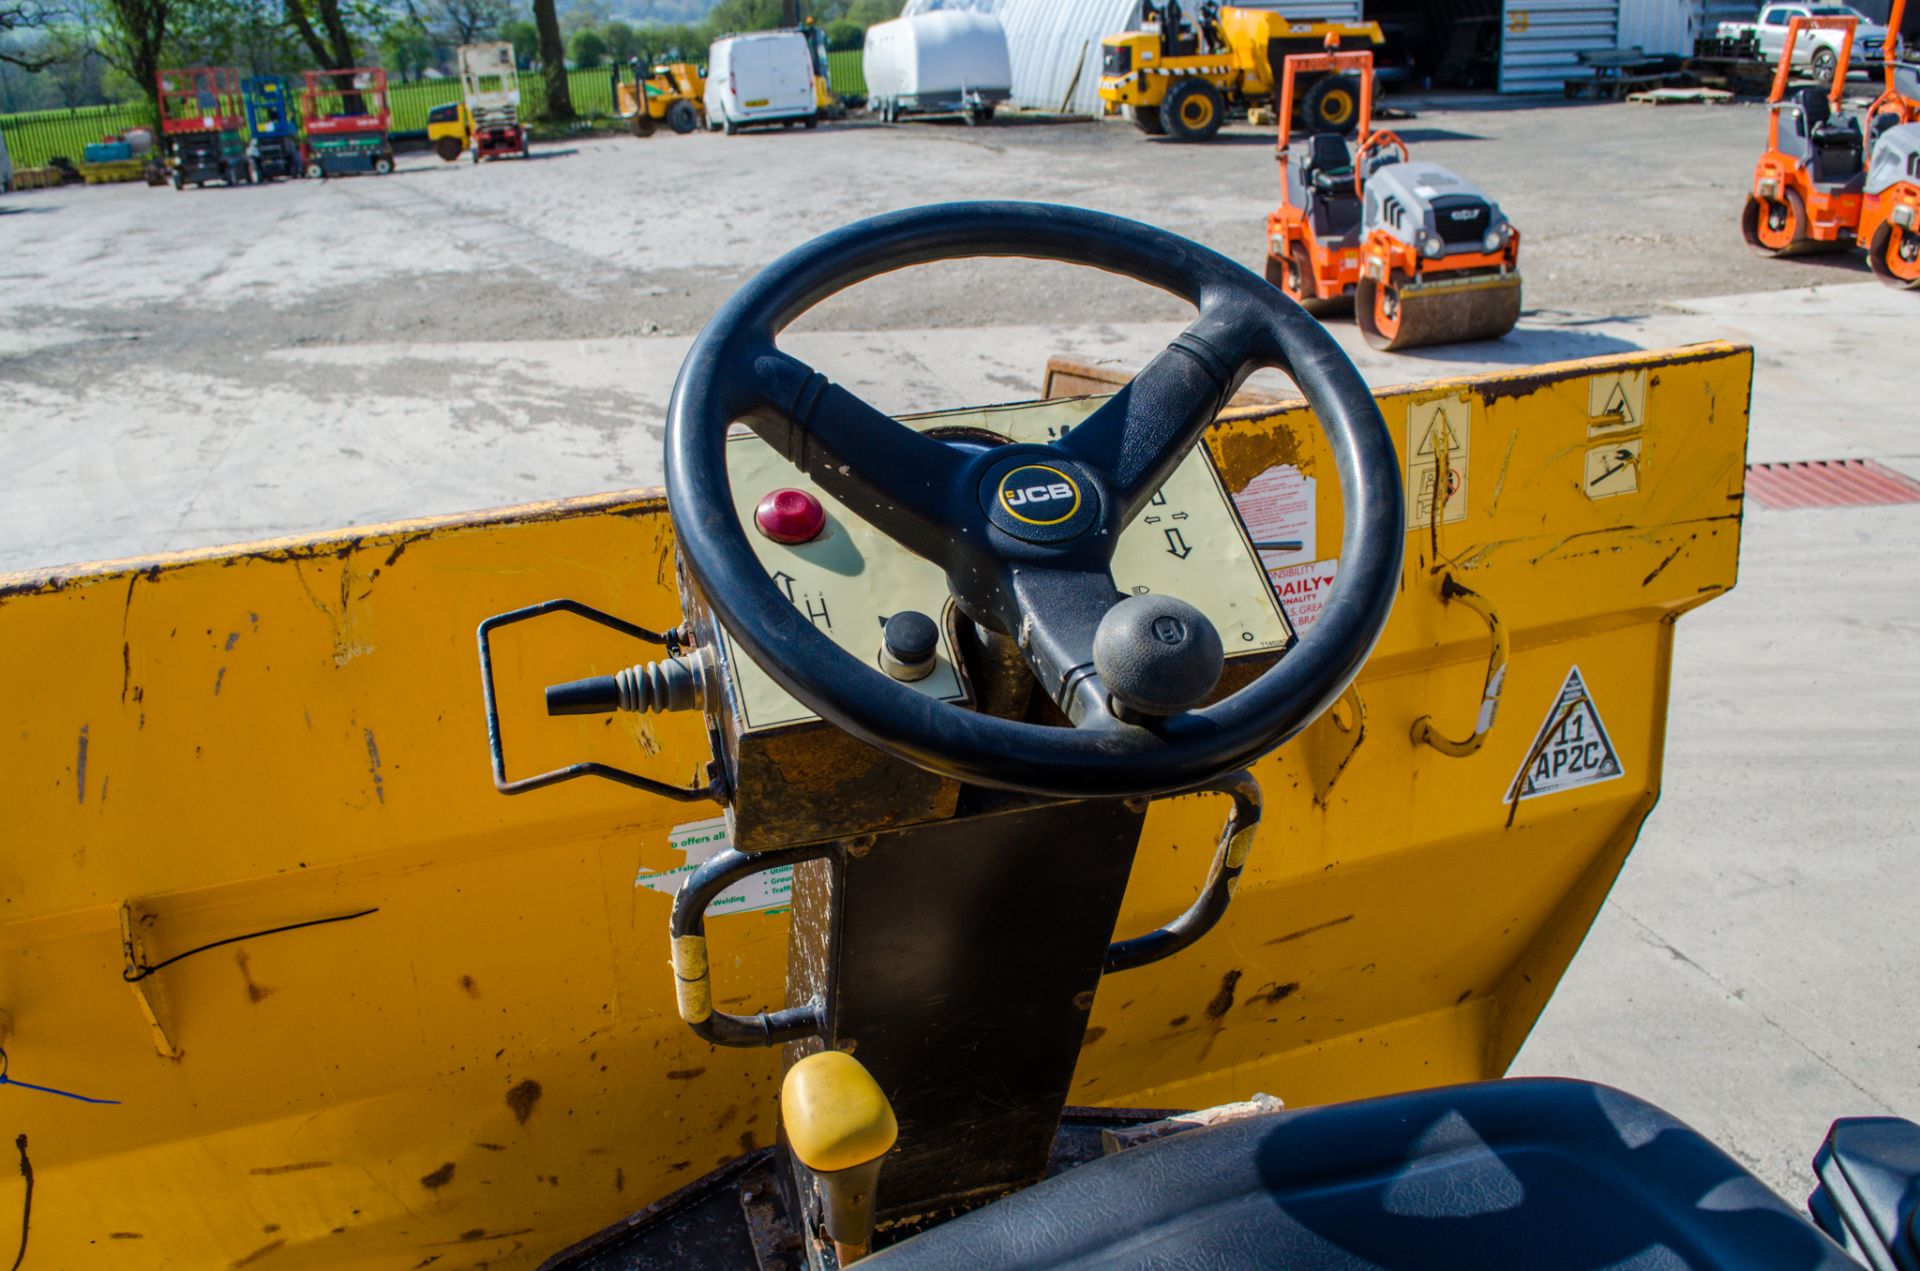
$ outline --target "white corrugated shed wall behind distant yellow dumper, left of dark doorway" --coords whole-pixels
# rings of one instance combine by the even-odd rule
[[[1140,0],[993,0],[1014,65],[1014,106],[1100,113],[1100,40],[1140,23]],[[1198,0],[1183,6],[1188,19]],[[1359,21],[1361,0],[1254,0],[1302,21]]]

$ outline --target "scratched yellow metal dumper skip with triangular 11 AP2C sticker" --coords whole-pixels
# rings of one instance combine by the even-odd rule
[[[1392,622],[1258,766],[1221,927],[1098,993],[1077,1102],[1505,1069],[1659,795],[1672,620],[1734,584],[1749,380],[1716,344],[1379,394]],[[1340,557],[1311,417],[1233,409],[1210,451],[1311,622]],[[553,595],[674,626],[659,495],[0,580],[0,1046],[15,1081],[117,1100],[0,1089],[23,1265],[534,1265],[772,1140],[778,1054],[691,1035],[666,966],[718,808],[492,789],[472,628]],[[697,716],[540,714],[632,653],[497,637],[513,776],[697,783]],[[1154,806],[1117,937],[1190,902],[1221,816]],[[716,1006],[780,1006],[778,879],[716,914]]]

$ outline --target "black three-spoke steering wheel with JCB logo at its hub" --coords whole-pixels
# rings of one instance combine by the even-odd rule
[[[927,438],[774,346],[801,313],[856,282],[977,255],[1106,269],[1181,296],[1198,315],[1052,445]],[[1121,597],[1108,566],[1121,528],[1260,367],[1279,367],[1300,386],[1332,447],[1346,511],[1340,574],[1292,651],[1254,683],[1196,708],[1219,676],[1217,634],[1179,601]],[[733,513],[726,434],[735,420],[881,534],[939,564],[960,611],[1018,641],[1073,728],[941,703],[816,630],[776,588]],[[1386,424],[1319,323],[1187,238],[1048,204],[887,213],[766,267],[707,323],[680,369],[666,415],[666,495],[682,561],[720,622],[822,718],[950,778],[1068,799],[1213,781],[1313,722],[1386,626],[1405,536]],[[1106,680],[1121,678],[1135,693],[1108,689]],[[1164,701],[1142,703],[1156,685]]]

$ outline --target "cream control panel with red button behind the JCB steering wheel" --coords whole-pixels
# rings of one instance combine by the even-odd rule
[[[1098,405],[1100,399],[1087,397],[1035,401],[914,415],[900,422],[1046,444]],[[768,576],[816,628],[920,693],[948,703],[972,701],[952,647],[950,599],[939,566],[849,513],[747,428],[728,438],[728,480],[733,511]],[[1206,445],[1194,445],[1121,534],[1114,582],[1121,591],[1173,595],[1200,609],[1219,630],[1229,662],[1271,657],[1294,639]],[[720,657],[743,731],[818,718],[724,632]]]

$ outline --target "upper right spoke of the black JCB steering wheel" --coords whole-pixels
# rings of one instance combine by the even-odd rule
[[[1116,530],[1154,497],[1240,382],[1281,363],[1263,324],[1235,321],[1240,315],[1227,317],[1223,307],[1233,301],[1204,305],[1125,388],[1056,442],[1104,476]]]

